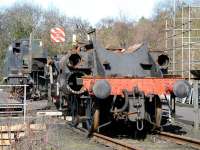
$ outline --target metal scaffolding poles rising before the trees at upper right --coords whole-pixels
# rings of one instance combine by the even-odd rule
[[[173,1],[173,15],[165,23],[165,52],[171,63],[169,74],[191,80],[191,70],[200,70],[200,5],[177,6]]]

